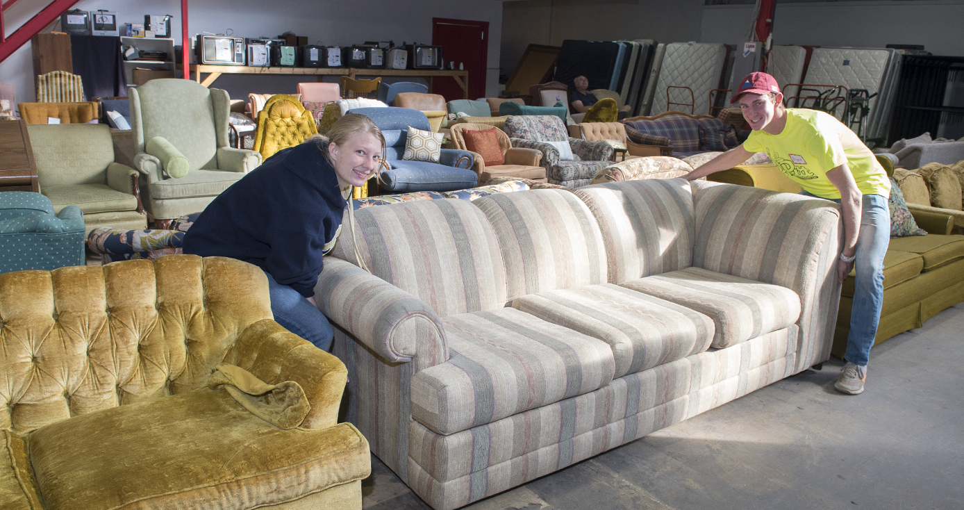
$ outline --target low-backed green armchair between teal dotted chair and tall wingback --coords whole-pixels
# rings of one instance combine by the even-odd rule
[[[114,161],[107,124],[27,126],[37,162],[40,193],[54,211],[76,205],[85,235],[98,227],[147,228],[136,170]]]

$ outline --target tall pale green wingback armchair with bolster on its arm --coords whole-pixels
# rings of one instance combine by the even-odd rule
[[[152,219],[203,210],[261,164],[254,150],[228,146],[227,92],[171,78],[131,89],[129,97],[134,167]]]

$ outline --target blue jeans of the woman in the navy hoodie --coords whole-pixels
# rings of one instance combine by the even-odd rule
[[[332,347],[332,338],[335,337],[328,317],[308,303],[305,296],[297,290],[275,282],[267,271],[264,274],[268,277],[271,312],[275,314],[275,321],[284,329],[305,338],[319,349],[328,351]]]

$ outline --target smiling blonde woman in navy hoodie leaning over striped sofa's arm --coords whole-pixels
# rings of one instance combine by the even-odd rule
[[[365,185],[384,148],[375,122],[345,115],[327,139],[275,153],[212,201],[184,235],[184,253],[260,267],[275,320],[327,351],[334,333],[314,302],[322,255],[335,247],[352,186]]]

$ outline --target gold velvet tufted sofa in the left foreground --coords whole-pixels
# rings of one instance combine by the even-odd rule
[[[362,508],[345,366],[272,319],[254,265],[169,255],[0,289],[0,507]]]

